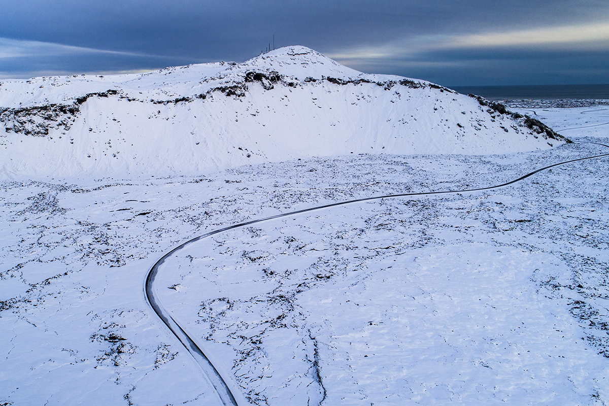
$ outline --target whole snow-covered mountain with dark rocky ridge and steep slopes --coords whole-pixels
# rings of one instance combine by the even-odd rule
[[[501,105],[362,74],[302,46],[241,64],[0,82],[3,178],[197,173],[350,153],[523,152],[563,141]]]

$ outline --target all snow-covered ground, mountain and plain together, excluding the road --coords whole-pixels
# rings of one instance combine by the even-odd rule
[[[278,51],[239,65],[1,82],[0,405],[217,404],[146,302],[144,278],[163,253],[248,219],[499,184],[606,152],[529,134],[448,89],[306,82],[401,78]],[[283,77],[245,82],[254,69]],[[213,90],[224,85],[244,96]],[[107,94],[75,103],[90,93]],[[527,114],[609,144],[606,111],[588,110]],[[204,139],[206,152],[193,152]],[[180,251],[157,287],[240,404],[607,404],[608,169],[608,159],[580,161],[495,191],[235,229]]]

